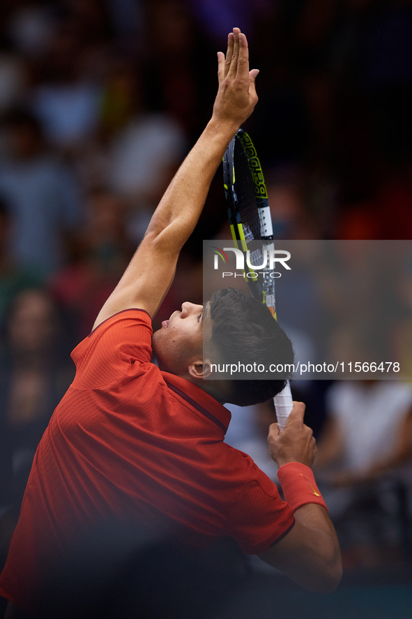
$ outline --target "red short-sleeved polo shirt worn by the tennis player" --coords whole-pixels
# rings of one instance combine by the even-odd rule
[[[152,364],[151,336],[148,314],[130,309],[73,350],[75,380],[36,452],[0,576],[0,594],[23,609],[70,532],[100,519],[176,525],[199,547],[229,535],[250,554],[293,526],[277,486],[223,442],[230,412]]]

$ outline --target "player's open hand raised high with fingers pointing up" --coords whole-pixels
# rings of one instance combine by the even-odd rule
[[[234,127],[234,132],[250,117],[257,104],[254,80],[258,69],[249,70],[247,38],[234,28],[227,38],[227,52],[218,52],[219,90],[213,119]]]

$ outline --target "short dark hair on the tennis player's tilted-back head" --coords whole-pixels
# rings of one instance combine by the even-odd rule
[[[265,375],[273,364],[293,364],[293,347],[287,334],[266,305],[250,294],[234,288],[218,290],[211,297],[211,320],[211,350],[216,351],[220,364],[261,364]],[[259,373],[236,373],[236,380],[230,374],[218,375],[229,386],[227,402],[239,406],[265,402],[280,393],[291,378],[289,368],[279,374],[270,372],[270,378],[264,380],[255,378]],[[220,380],[213,382],[219,389]]]

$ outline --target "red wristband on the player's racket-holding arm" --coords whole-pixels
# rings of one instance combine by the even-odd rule
[[[277,471],[277,477],[282,484],[284,500],[291,506],[293,512],[307,503],[317,503],[328,509],[316,486],[312,469],[305,464],[288,462]]]

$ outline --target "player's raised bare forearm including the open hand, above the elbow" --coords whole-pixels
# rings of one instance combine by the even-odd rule
[[[218,52],[219,89],[213,116],[186,157],[148,226],[147,234],[162,237],[171,251],[188,239],[204,206],[208,188],[231,138],[252,114],[257,103],[254,80],[249,71],[246,37],[239,29],[229,33],[226,58]]]

